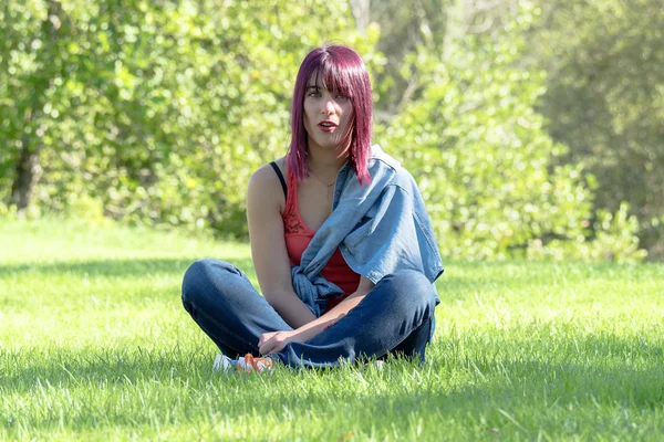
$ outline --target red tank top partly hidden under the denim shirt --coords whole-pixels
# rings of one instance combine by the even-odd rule
[[[287,187],[288,197],[282,214],[286,249],[288,250],[291,265],[300,265],[302,253],[311,242],[315,231],[309,229],[309,227],[304,224],[304,221],[302,221],[298,201],[298,180],[290,172],[288,173]],[[339,248],[334,251],[334,254],[332,254],[332,257],[321,271],[321,275],[331,283],[336,284],[345,293],[344,296],[330,299],[325,312],[329,312],[350,294],[354,293],[360,284],[360,275],[349,267]]]

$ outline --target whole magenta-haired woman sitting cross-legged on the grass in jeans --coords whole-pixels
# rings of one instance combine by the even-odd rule
[[[373,101],[355,51],[311,51],[298,73],[286,157],[249,181],[262,296],[230,263],[186,272],[183,303],[225,360],[334,367],[390,352],[424,361],[443,273],[413,177],[371,145]]]

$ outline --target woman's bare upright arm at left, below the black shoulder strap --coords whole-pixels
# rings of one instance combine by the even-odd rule
[[[298,328],[315,316],[293,288],[280,210],[283,201],[274,170],[270,166],[258,169],[247,192],[251,257],[263,297],[291,327]]]

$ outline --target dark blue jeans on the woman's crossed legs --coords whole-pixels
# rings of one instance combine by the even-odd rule
[[[341,359],[400,354],[424,361],[434,309],[439,303],[422,273],[385,276],[346,316],[305,343],[290,343],[271,357],[292,367],[335,367]],[[183,304],[222,354],[258,356],[268,332],[292,330],[235,265],[216,260],[191,264],[183,281]]]

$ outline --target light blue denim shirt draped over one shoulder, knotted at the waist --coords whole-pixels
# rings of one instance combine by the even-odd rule
[[[349,266],[373,283],[398,270],[416,270],[432,284],[443,262],[422,193],[413,176],[378,145],[371,147],[372,182],[360,185],[346,162],[336,176],[332,213],[291,267],[293,288],[317,316],[343,291],[320,272],[339,248]]]

